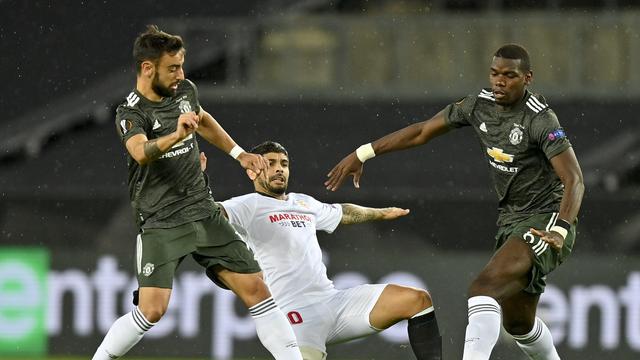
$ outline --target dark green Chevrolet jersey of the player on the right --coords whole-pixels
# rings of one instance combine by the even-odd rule
[[[563,185],[550,159],[571,147],[544,97],[529,91],[502,110],[490,89],[445,108],[452,128],[471,126],[486,156],[498,195],[498,225],[558,211]]]

